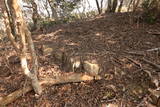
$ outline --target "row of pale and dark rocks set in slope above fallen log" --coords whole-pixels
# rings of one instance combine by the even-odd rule
[[[89,59],[87,55],[67,52],[65,49],[57,49],[50,45],[43,45],[44,56],[52,55],[61,62],[61,67],[67,72],[85,72],[99,78],[101,67],[96,60]]]

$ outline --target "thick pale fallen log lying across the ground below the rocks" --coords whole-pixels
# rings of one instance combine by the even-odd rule
[[[73,82],[83,82],[83,81],[90,81],[94,80],[93,77],[82,74],[82,73],[72,73],[72,74],[65,74],[63,76],[59,76],[56,78],[45,78],[40,81],[40,85],[45,88],[45,85],[55,85],[55,84],[64,84],[64,83],[73,83]],[[21,97],[23,94],[31,91],[33,88],[31,86],[26,86],[22,89],[19,89],[5,97],[0,97],[0,106],[5,106],[10,104],[11,102],[15,101],[17,98]]]

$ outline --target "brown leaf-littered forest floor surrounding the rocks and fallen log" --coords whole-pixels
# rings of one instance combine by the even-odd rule
[[[160,103],[149,91],[157,88],[154,80],[159,79],[160,68],[155,66],[160,66],[159,23],[138,23],[129,13],[108,14],[54,25],[34,32],[33,39],[39,78],[68,73],[52,55],[41,53],[39,47],[50,44],[97,60],[102,79],[49,86],[38,99],[29,92],[8,107],[156,107]],[[16,55],[10,43],[0,44],[2,97],[23,88],[25,76],[19,62],[8,59]]]

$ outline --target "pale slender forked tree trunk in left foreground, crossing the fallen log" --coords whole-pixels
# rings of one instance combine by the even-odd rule
[[[24,71],[25,75],[31,79],[32,82],[32,87],[35,91],[36,94],[41,94],[42,89],[41,86],[39,85],[38,82],[38,78],[37,78],[37,69],[38,69],[38,63],[37,63],[37,58],[36,58],[36,54],[34,51],[34,45],[33,45],[33,41],[31,38],[31,33],[27,28],[26,22],[23,19],[22,16],[22,11],[17,3],[17,0],[10,0],[8,1],[8,3],[10,4],[9,6],[11,6],[10,8],[12,8],[13,10],[13,15],[12,16],[15,20],[15,23],[17,25],[17,29],[20,33],[20,37],[21,37],[21,52],[19,53],[20,55],[20,59],[21,59],[21,67],[22,70]],[[28,63],[27,63],[27,42],[28,42],[28,46],[29,46],[29,50],[31,52],[31,56],[32,56],[32,66],[33,69],[30,71],[28,69]]]

